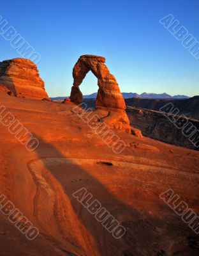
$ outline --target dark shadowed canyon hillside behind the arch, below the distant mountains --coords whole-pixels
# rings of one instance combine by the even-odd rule
[[[186,136],[184,136],[182,130],[177,129],[177,127],[175,127],[175,125],[170,122],[168,118],[166,118],[163,112],[158,111],[159,108],[162,108],[165,106],[165,104],[168,104],[170,100],[126,99],[125,101],[127,105],[126,113],[128,115],[130,125],[134,127],[131,129],[132,133],[135,129],[138,129],[138,132],[141,131],[144,136],[155,140],[163,141],[165,143],[170,143],[180,147],[195,150],[199,149],[196,148],[193,143],[186,138]],[[188,118],[188,120],[196,127],[196,129],[199,130],[199,115],[198,108],[195,106],[195,101],[199,104],[198,96],[188,100],[173,100],[172,103],[173,106],[177,106],[177,108],[182,109],[182,115],[186,115],[188,117],[193,116]],[[84,99],[84,102],[90,108],[94,108],[94,99]],[[133,104],[135,104],[135,107],[133,107]],[[184,109],[182,106],[184,106]],[[188,106],[187,109],[186,106]],[[192,110],[191,106],[193,107]],[[144,107],[151,109],[145,109]],[[152,108],[157,110],[152,110]]]

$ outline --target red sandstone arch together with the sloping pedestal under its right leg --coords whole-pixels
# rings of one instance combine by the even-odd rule
[[[124,98],[114,75],[110,74],[105,65],[104,57],[95,55],[80,56],[73,68],[74,82],[71,88],[70,100],[76,103],[82,102],[83,95],[79,86],[89,71],[98,79],[99,89],[95,106],[99,115],[101,115],[101,120],[110,127],[124,129],[130,133],[131,127],[125,111]]]

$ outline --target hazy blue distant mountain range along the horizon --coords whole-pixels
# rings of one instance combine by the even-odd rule
[[[130,98],[140,98],[140,99],[189,99],[188,96],[186,95],[175,95],[175,96],[171,96],[167,93],[142,93],[142,94],[138,94],[138,93],[133,93],[133,92],[122,92],[122,95],[124,97],[124,99],[130,99]],[[96,99],[97,97],[97,93],[94,92],[92,94],[89,95],[84,95],[84,99]],[[68,97],[53,97],[50,98],[52,100],[63,100],[66,99]]]

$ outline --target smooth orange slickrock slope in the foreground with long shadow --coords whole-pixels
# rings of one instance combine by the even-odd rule
[[[198,236],[159,198],[173,189],[199,214],[199,152],[114,130],[126,143],[115,154],[73,102],[0,102],[40,142],[29,152],[0,124],[0,191],[40,230],[29,241],[0,212],[0,255],[199,255]],[[81,188],[126,228],[121,239],[73,197]]]

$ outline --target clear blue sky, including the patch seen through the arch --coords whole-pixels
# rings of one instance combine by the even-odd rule
[[[195,60],[159,19],[169,13],[199,40],[198,0],[9,0],[0,15],[41,54],[40,76],[50,97],[70,95],[82,54],[105,56],[121,92],[199,95]],[[0,36],[1,58],[21,57]],[[87,74],[82,93],[97,92]]]

